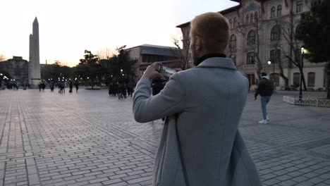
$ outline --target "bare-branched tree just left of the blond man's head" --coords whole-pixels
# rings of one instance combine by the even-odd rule
[[[189,47],[190,47],[190,39],[187,38],[189,35],[184,35],[184,38],[181,39],[182,48],[179,40],[177,38],[173,38],[173,44],[176,46],[174,49],[174,54],[178,58],[180,68],[182,70],[191,68],[190,62],[190,54],[189,54]]]

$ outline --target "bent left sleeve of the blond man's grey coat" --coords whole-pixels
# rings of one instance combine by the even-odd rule
[[[152,97],[150,83],[148,78],[142,78],[135,87],[133,114],[136,121],[147,123],[183,111],[185,89],[177,74],[172,75],[164,89]]]

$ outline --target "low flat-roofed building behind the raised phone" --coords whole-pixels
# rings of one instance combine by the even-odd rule
[[[138,60],[136,74],[140,77],[147,66],[154,62],[163,62],[169,67],[177,66],[176,48],[171,46],[158,46],[142,44],[126,49],[130,51],[130,58]]]

